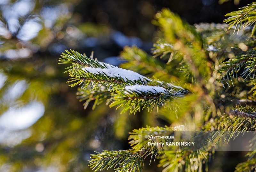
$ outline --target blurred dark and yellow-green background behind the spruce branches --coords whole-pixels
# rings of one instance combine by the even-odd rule
[[[0,171],[92,171],[93,151],[129,149],[132,129],[174,123],[177,116],[163,115],[166,109],[119,115],[104,104],[92,111],[89,104],[84,110],[66,83],[65,66],[58,65],[60,53],[94,51],[101,61],[170,82],[175,64],[148,55],[157,40],[156,12],[167,7],[190,24],[222,23],[226,13],[252,1],[224,2],[0,0]],[[225,161],[213,167],[234,168]]]

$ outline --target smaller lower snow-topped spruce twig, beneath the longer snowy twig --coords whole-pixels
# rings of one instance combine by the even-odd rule
[[[151,112],[155,106],[158,109],[174,98],[183,97],[185,93],[187,91],[165,89],[159,86],[125,86],[124,90],[116,90],[110,107],[118,106],[116,109],[124,107],[121,113],[130,110],[130,114],[135,114],[144,108],[148,108],[148,111]]]

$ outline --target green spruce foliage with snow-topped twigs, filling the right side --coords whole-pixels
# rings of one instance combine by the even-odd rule
[[[63,53],[60,64],[71,64],[66,68],[71,77],[68,82],[75,82],[71,87],[80,85],[78,95],[81,101],[86,100],[85,108],[91,101],[93,108],[106,101],[110,107],[122,108],[121,113],[136,114],[147,108],[171,125],[133,130],[129,137],[132,149],[96,152],[90,167],[95,171],[141,171],[149,156],[150,162],[160,159],[159,167],[164,172],[208,170],[214,151],[207,142],[221,145],[235,139],[239,131],[255,131],[254,9],[255,3],[227,14],[231,17],[225,22],[230,26],[195,27],[163,9],[153,21],[159,26],[154,56],[137,47],[125,47],[121,53],[128,60],[121,66],[134,71],[101,63],[76,51]],[[253,24],[252,29],[240,29]],[[232,34],[236,30],[237,34]],[[171,146],[151,146],[146,139],[149,133],[169,136],[184,130],[198,131],[197,137],[203,140],[200,149],[183,151],[179,147],[170,151]],[[222,140],[224,135],[204,136],[204,131],[228,131],[230,135]],[[255,146],[252,141],[248,161],[239,163],[236,171],[255,170]]]

